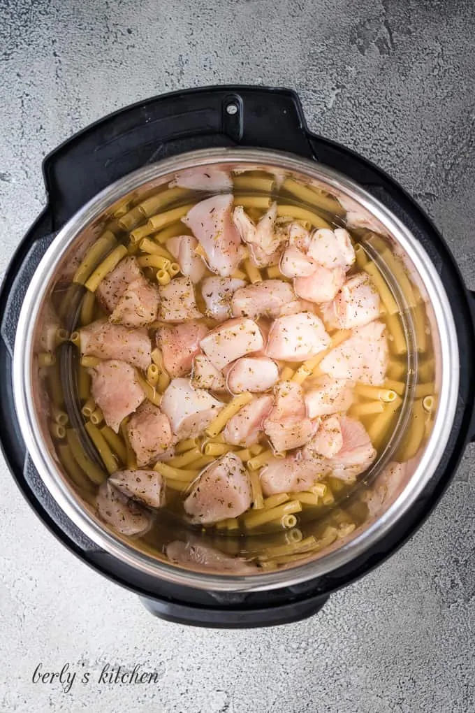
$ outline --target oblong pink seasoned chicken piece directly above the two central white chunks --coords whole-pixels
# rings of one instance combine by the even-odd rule
[[[293,289],[288,282],[281,279],[264,279],[263,282],[236,289],[231,300],[231,309],[234,317],[278,317],[282,307],[293,299]]]

